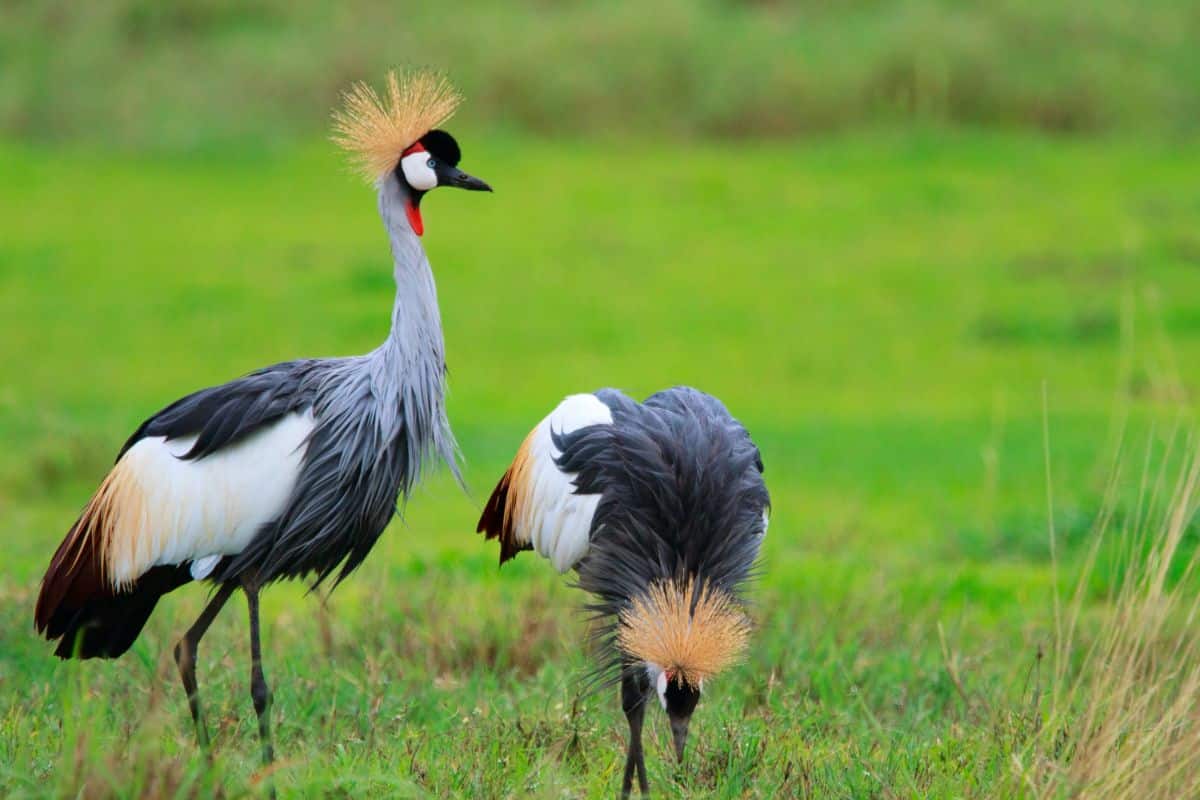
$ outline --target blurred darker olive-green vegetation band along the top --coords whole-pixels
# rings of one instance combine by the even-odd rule
[[[790,137],[896,120],[1196,132],[1177,0],[7,4],[0,133],[190,149],[316,136],[352,80],[448,70],[540,134]],[[287,133],[284,133],[287,132]]]

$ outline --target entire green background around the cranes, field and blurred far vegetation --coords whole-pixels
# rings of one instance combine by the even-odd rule
[[[1200,6],[0,14],[0,793],[262,787],[236,604],[202,651],[209,768],[170,658],[203,589],[106,663],[56,662],[32,601],[140,420],[385,335],[374,198],[326,134],[350,82],[407,64],[461,85],[448,128],[497,188],[424,206],[472,491],[431,480],[328,600],[268,593],[280,789],[610,796],[624,728],[577,698],[581,599],[472,531],[563,395],[688,383],[760,443],[774,517],[748,663],[688,768],[653,715],[652,787],[1007,793],[995,711],[1026,708],[1052,630],[1045,452],[1066,584],[1114,464],[1135,517],[1144,456],[1190,420]]]

